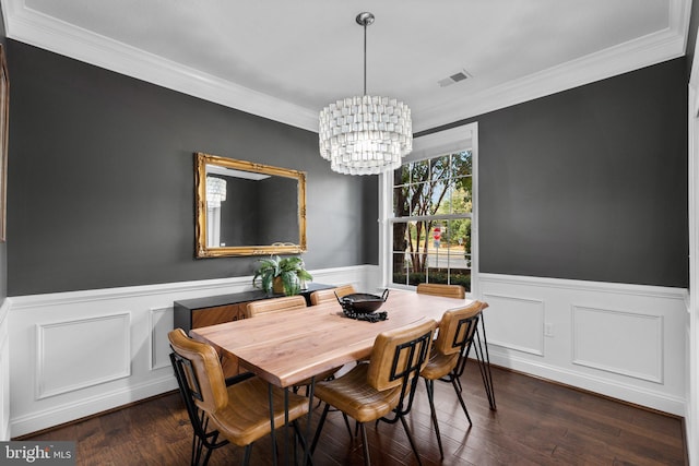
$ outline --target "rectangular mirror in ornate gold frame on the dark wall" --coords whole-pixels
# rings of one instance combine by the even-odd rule
[[[194,154],[196,255],[306,251],[306,174]]]

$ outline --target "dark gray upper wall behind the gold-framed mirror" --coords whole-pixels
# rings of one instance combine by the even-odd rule
[[[378,227],[355,206],[377,193],[331,172],[316,133],[8,46],[9,296],[252,274],[253,258],[193,259],[198,151],[306,171],[307,266],[367,262]]]

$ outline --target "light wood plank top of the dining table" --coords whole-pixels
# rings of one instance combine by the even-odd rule
[[[336,301],[300,310],[257,315],[190,331],[220,355],[237,359],[241,369],[280,387],[370,356],[376,336],[422,319],[437,323],[445,311],[470,300],[390,290],[379,309],[387,320],[367,322],[343,314]],[[377,312],[379,312],[377,311]]]

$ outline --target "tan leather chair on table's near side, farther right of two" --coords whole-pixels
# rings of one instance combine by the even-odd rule
[[[457,397],[461,404],[463,413],[466,415],[469,425],[473,426],[466,404],[461,396],[461,386],[457,383],[457,368],[460,367],[462,359],[466,358],[469,347],[473,344],[474,335],[478,326],[481,311],[487,307],[486,303],[474,301],[463,308],[451,309],[442,315],[439,324],[439,332],[433,345],[427,365],[420,372],[420,377],[425,380],[427,389],[427,397],[429,399],[429,410],[437,434],[437,443],[439,445],[439,454],[445,458],[445,452],[441,445],[441,434],[439,433],[439,423],[437,421],[437,411],[435,409],[435,381],[446,380],[451,382],[457,392]],[[446,378],[446,379],[445,379]]]

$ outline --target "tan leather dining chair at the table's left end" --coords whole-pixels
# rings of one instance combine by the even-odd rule
[[[209,462],[213,450],[233,443],[245,447],[244,465],[249,464],[252,444],[285,425],[285,393],[258,377],[226,386],[216,350],[205,343],[189,338],[181,328],[168,334],[173,354],[170,359],[185,405],[203,429],[194,431],[192,465]],[[288,420],[299,434],[296,420],[308,413],[308,398],[288,393]],[[274,406],[273,415],[270,404]],[[203,433],[203,435],[202,435]],[[223,440],[218,440],[218,437]],[[303,438],[303,437],[301,437]],[[275,449],[276,445],[272,445]],[[274,453],[273,453],[274,454]]]

